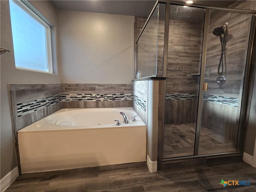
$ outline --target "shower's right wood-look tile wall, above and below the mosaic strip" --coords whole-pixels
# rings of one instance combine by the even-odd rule
[[[250,9],[251,2],[239,2],[239,8]],[[236,8],[236,7],[235,7]],[[214,28],[228,22],[226,31],[226,66],[224,75],[226,82],[223,85],[216,83],[218,77],[218,64],[220,61],[220,38],[214,36]],[[251,16],[230,12],[212,11],[208,32],[206,54],[206,80],[208,83],[207,94],[226,96],[241,100],[242,84],[246,64],[248,38],[250,32]],[[236,146],[240,102],[238,107],[203,102],[202,126],[232,140]]]

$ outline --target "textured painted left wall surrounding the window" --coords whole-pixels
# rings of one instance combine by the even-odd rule
[[[14,155],[12,123],[10,105],[8,98],[8,83],[60,83],[58,74],[47,74],[26,70],[17,70],[14,62],[14,52],[12,44],[12,31],[10,24],[9,2],[1,3],[1,46],[11,49],[12,52],[1,54],[1,174],[2,179],[10,172],[16,164]],[[32,4],[46,17],[52,24],[57,24],[55,9],[49,1],[33,1]],[[29,50],[28,50],[29,51]]]

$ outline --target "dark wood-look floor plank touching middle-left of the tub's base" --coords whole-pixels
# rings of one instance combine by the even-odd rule
[[[99,167],[77,168],[46,172],[40,182],[56,182],[98,177]]]

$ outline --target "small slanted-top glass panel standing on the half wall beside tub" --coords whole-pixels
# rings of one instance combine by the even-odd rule
[[[140,77],[156,76],[158,9],[159,4],[137,42],[137,69],[141,72]]]

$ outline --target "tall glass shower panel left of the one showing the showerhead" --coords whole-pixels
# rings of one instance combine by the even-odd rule
[[[204,14],[170,5],[164,158],[194,155]]]

